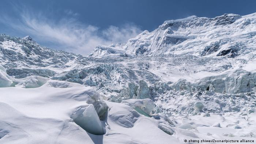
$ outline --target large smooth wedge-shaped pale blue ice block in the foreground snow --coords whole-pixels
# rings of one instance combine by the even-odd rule
[[[98,114],[91,104],[79,107],[71,115],[71,118],[77,125],[86,130],[86,132],[95,135],[105,134],[105,128],[103,128]]]

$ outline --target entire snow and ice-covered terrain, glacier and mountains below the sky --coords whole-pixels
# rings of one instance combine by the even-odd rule
[[[255,140],[255,31],[191,16],[87,57],[0,34],[0,143]]]

